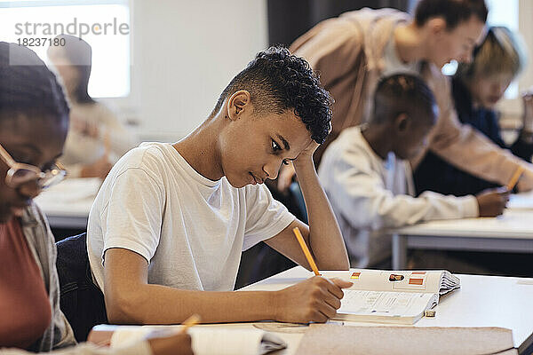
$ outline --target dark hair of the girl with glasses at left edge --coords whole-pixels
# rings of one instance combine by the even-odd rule
[[[18,114],[68,119],[68,101],[56,76],[34,51],[0,42],[0,120]]]

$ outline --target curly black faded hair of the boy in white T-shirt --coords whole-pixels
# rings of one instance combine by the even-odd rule
[[[219,112],[225,99],[240,90],[250,92],[258,113],[294,110],[314,141],[322,144],[328,137],[333,99],[306,59],[290,54],[286,48],[274,46],[259,51],[222,91],[211,117]]]

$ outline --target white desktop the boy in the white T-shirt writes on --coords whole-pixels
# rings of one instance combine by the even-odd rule
[[[259,281],[243,290],[276,290],[293,285],[313,275],[297,266]],[[458,275],[461,288],[442,296],[435,318],[420,319],[414,327],[506,327],[513,330],[519,346],[533,332],[533,279],[497,276]],[[379,326],[377,323],[345,322],[350,326]],[[383,325],[381,325],[383,326]],[[278,334],[294,353],[303,334]],[[299,336],[299,337],[298,337]],[[293,348],[293,349],[292,349]]]

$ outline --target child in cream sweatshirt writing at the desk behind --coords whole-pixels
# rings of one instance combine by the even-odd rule
[[[344,130],[328,146],[319,168],[353,267],[390,267],[388,228],[502,213],[509,197],[505,188],[476,196],[414,196],[407,160],[425,148],[438,114],[422,78],[383,78],[373,107],[370,122]]]

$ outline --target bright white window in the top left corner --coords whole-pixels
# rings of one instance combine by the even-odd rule
[[[0,0],[2,40],[28,45],[46,63],[55,36],[81,36],[91,45],[89,94],[94,98],[129,95],[130,30],[128,0]]]

